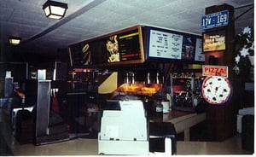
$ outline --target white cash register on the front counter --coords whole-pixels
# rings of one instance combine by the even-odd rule
[[[99,154],[148,155],[148,125],[142,101],[110,100],[102,112]]]

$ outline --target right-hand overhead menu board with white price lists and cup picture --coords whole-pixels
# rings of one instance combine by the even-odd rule
[[[200,35],[177,32],[154,26],[148,26],[147,32],[146,60],[188,62],[205,61],[204,54],[201,52],[202,49],[197,48],[198,45],[201,44],[196,44],[196,42],[202,41]],[[174,55],[175,53],[176,55]],[[195,54],[197,58],[195,58]]]

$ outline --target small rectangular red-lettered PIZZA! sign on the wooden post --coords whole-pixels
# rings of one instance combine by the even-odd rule
[[[203,76],[222,76],[228,78],[229,71],[228,67],[224,66],[202,66],[202,75]]]

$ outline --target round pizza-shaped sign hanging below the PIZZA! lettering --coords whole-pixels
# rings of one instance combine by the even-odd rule
[[[201,86],[203,98],[211,105],[222,105],[230,100],[231,85],[228,78],[208,76]]]

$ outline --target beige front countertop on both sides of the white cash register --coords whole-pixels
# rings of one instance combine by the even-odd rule
[[[75,138],[66,142],[57,142],[34,146],[30,144],[20,145],[9,131],[8,125],[2,123],[4,128],[2,136],[8,142],[14,155],[97,155],[98,142],[96,139]],[[4,125],[5,124],[5,125]],[[241,135],[224,142],[183,142],[177,141],[177,154],[249,154],[252,153],[241,148]]]

